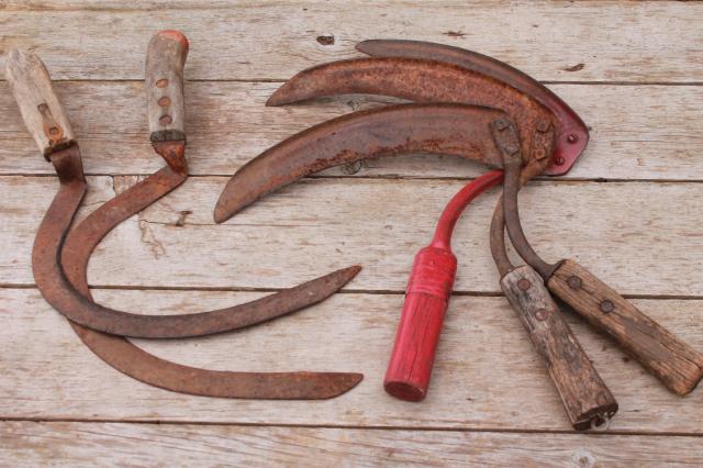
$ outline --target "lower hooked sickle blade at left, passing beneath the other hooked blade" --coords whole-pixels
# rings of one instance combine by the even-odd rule
[[[175,180],[169,181],[172,172],[168,167],[150,178],[164,190],[176,185]],[[137,185],[129,190],[143,189]],[[69,281],[88,300],[92,300],[87,270],[93,248],[116,224],[140,212],[144,204],[150,204],[148,200],[127,204],[124,193],[99,208],[100,216],[88,216],[66,238],[62,265]],[[364,378],[350,372],[234,372],[188,367],[146,353],[121,336],[69,323],[80,339],[113,368],[142,382],[180,393],[238,399],[327,399],[349,391]]]

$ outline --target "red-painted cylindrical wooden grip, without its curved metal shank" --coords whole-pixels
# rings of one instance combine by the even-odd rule
[[[456,270],[457,259],[447,248],[428,246],[415,256],[383,379],[383,388],[395,398],[421,401],[427,394]]]

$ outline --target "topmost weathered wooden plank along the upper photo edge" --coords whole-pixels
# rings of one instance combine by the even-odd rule
[[[191,41],[191,79],[280,80],[353,56],[361,40],[411,37],[471,48],[539,80],[703,81],[694,2],[200,1],[186,14],[186,2],[43,3],[49,11],[0,12],[0,49],[35,47],[58,79],[142,79],[148,37],[177,29]]]

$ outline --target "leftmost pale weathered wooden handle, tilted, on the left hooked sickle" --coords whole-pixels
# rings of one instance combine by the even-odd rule
[[[22,119],[42,154],[63,149],[74,142],[68,114],[58,101],[42,60],[20,48],[7,56],[5,73]]]

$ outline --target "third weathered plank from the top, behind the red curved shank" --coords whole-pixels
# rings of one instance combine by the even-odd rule
[[[134,177],[92,177],[88,209]],[[57,182],[0,179],[0,282],[32,285],[30,250]],[[226,178],[189,179],[119,225],[91,258],[92,285],[178,288],[286,288],[360,264],[346,288],[405,288],[413,253],[426,244],[458,180],[309,179],[266,197],[227,223],[212,208]],[[698,183],[535,182],[521,192],[527,236],[546,259],[578,256],[624,294],[703,296],[703,212]],[[495,191],[459,220],[456,291],[499,292],[488,247]],[[413,204],[413,223],[401,209]],[[588,207],[588,209],[584,209]],[[584,230],[583,226],[589,226]],[[647,255],[641,255],[647,252]],[[607,261],[603,261],[607,258]],[[134,268],[138,265],[138,268]],[[643,275],[641,271],[647,271]]]

